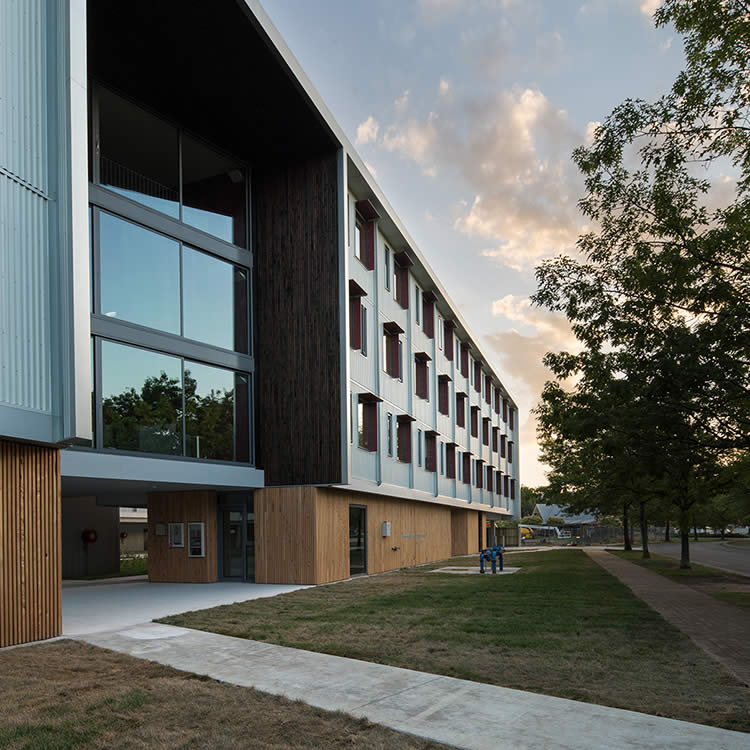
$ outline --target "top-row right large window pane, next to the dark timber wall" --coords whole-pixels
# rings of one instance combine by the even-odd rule
[[[190,136],[182,138],[182,220],[246,247],[245,170]]]

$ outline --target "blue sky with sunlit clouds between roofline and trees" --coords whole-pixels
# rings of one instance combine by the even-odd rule
[[[659,0],[262,0],[519,406],[521,481],[545,483],[532,408],[564,318],[534,267],[586,229],[571,160],[684,61]]]

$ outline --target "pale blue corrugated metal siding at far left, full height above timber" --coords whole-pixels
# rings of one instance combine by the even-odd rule
[[[0,2],[0,402],[51,411],[45,0]]]

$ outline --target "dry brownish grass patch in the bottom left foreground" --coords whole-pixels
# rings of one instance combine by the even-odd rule
[[[444,745],[73,641],[0,651],[0,748]]]

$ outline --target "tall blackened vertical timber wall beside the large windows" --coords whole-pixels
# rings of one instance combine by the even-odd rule
[[[341,480],[335,152],[253,174],[256,463],[266,485]]]

